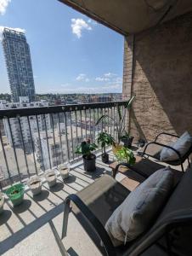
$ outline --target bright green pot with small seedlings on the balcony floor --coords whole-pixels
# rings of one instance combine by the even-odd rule
[[[6,195],[8,195],[8,198],[10,201],[12,201],[13,206],[18,206],[23,201],[24,198],[24,184],[15,184],[12,185],[9,189],[6,190]]]

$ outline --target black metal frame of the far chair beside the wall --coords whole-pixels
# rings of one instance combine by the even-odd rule
[[[150,155],[150,154],[147,154],[147,153],[146,153],[146,149],[147,149],[147,148],[149,147],[149,145],[151,145],[151,144],[159,145],[159,146],[165,147],[165,148],[170,148],[170,149],[172,149],[176,154],[178,154],[178,160],[165,161],[165,162],[166,162],[167,164],[171,165],[171,166],[181,166],[182,172],[184,172],[184,161],[185,161],[185,160],[188,160],[188,164],[189,164],[189,167],[190,167],[189,154],[192,153],[192,146],[189,148],[188,152],[182,156],[182,155],[178,152],[177,149],[172,148],[171,146],[166,145],[166,144],[157,143],[156,141],[157,141],[157,139],[158,139],[161,135],[167,135],[167,136],[171,136],[171,137],[178,137],[178,136],[175,135],[175,134],[171,134],[171,133],[167,133],[167,132],[161,132],[160,134],[158,134],[158,135],[155,137],[155,141],[154,141],[154,142],[147,143],[147,145],[144,147],[144,152],[143,152],[143,154],[142,154],[142,157],[144,157],[144,155],[146,154],[147,156],[150,156],[150,157],[152,157],[152,158],[155,158],[153,155]],[[157,159],[157,158],[155,158],[155,159]],[[159,160],[159,159],[157,159],[157,160]]]

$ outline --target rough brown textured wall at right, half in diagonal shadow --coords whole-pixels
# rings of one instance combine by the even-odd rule
[[[123,95],[136,95],[131,134],[150,141],[161,131],[192,132],[192,14],[131,38],[123,70]]]

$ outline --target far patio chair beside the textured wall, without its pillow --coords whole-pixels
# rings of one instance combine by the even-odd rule
[[[184,161],[185,160],[188,160],[188,164],[189,164],[189,167],[190,167],[189,154],[192,153],[192,145],[189,148],[189,150],[186,152],[186,154],[181,155],[178,152],[178,150],[176,150],[175,148],[172,148],[172,146],[166,145],[166,144],[163,144],[163,143],[158,143],[157,139],[159,137],[161,137],[161,135],[166,135],[166,136],[169,136],[169,137],[178,137],[175,134],[171,134],[171,133],[167,133],[167,132],[161,132],[155,137],[154,142],[147,143],[144,146],[144,148],[141,148],[139,150],[139,154],[141,154],[143,157],[145,155],[147,155],[148,157],[150,156],[150,157],[154,158],[155,160],[160,160],[161,149],[162,148],[170,148],[178,155],[178,159],[177,160],[172,160],[172,161],[165,161],[165,163],[167,163],[170,166],[181,166],[182,172],[184,172]]]

